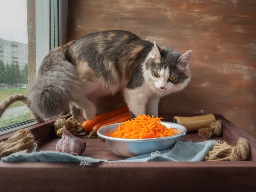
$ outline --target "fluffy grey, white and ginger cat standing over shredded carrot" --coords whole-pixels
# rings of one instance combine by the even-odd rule
[[[29,90],[31,108],[44,118],[70,108],[76,119],[90,120],[100,97],[121,90],[132,118],[158,116],[160,98],[189,84],[191,56],[128,31],[85,35],[46,55]]]

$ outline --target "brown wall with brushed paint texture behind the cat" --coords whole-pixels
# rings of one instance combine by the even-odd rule
[[[256,136],[256,1],[69,1],[68,41],[110,29],[193,50],[191,83],[162,99],[160,113],[221,113]],[[100,109],[120,105],[117,95]]]

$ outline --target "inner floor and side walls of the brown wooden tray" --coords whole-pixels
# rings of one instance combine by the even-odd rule
[[[163,117],[163,121],[172,122],[174,116],[195,116],[195,114],[160,114],[160,116]],[[55,150],[55,145],[58,142],[58,138],[55,136],[53,124],[56,119],[67,119],[68,117],[70,117],[69,114],[28,127],[28,129],[34,135],[36,142],[38,143],[38,150]],[[225,140],[230,145],[236,145],[236,142],[239,139],[239,137],[245,137],[249,140],[251,148],[249,160],[256,161],[256,138],[247,134],[239,126],[225,119],[222,115],[215,114],[215,118],[220,119],[222,121],[223,134],[221,135],[221,137],[212,137],[211,140]],[[14,134],[14,132],[0,136],[0,141],[6,140],[10,136],[12,136],[12,134]],[[111,151],[108,150],[108,147],[107,145],[105,145],[104,141],[96,138],[87,139],[85,135],[81,135],[81,138],[87,142],[87,148],[84,151],[83,155],[108,160],[122,159],[121,157],[112,154]],[[201,142],[204,141],[205,139],[199,137],[198,132],[194,131],[188,132],[186,136],[183,137],[182,140],[192,140],[193,142]]]

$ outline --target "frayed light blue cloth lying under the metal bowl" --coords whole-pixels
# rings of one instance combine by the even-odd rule
[[[216,141],[204,141],[198,143],[178,141],[170,150],[156,151],[151,154],[144,154],[125,160],[116,160],[114,162],[146,162],[146,161],[203,161],[208,152],[212,150]],[[39,151],[32,153],[20,151],[3,157],[1,161],[5,162],[80,162],[81,166],[91,165],[93,163],[106,162],[108,160],[93,159],[84,156],[75,156],[58,151]],[[113,162],[113,161],[111,161]]]

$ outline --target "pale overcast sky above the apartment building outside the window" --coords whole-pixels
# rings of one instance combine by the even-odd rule
[[[0,38],[28,43],[26,0],[0,0]]]

